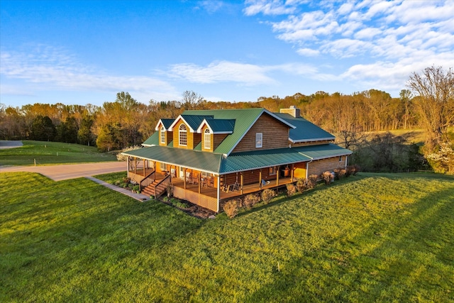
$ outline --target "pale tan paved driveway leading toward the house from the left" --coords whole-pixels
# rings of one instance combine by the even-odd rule
[[[63,164],[46,166],[0,167],[0,172],[38,172],[54,181],[91,177],[110,172],[126,172],[126,162],[99,162],[83,164]]]

